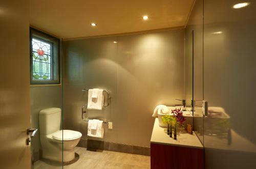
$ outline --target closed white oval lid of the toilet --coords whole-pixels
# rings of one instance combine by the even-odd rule
[[[63,134],[62,134],[63,131]],[[53,138],[57,140],[72,140],[82,136],[82,134],[78,131],[73,130],[59,130],[53,133]]]

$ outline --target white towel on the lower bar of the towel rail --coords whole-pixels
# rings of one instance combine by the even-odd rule
[[[92,137],[103,138],[103,135],[104,135],[103,121],[97,120],[97,129],[96,130],[92,129],[93,123],[94,123],[93,120],[89,120],[87,135],[92,136]]]

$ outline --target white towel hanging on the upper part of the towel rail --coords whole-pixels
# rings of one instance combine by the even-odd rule
[[[93,91],[97,91],[97,98],[92,97]],[[102,89],[89,89],[87,109],[102,110],[103,102],[104,97]]]

